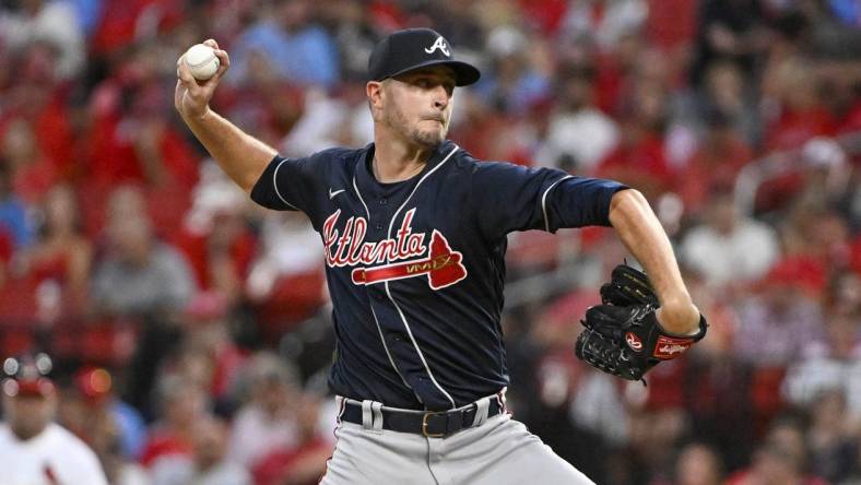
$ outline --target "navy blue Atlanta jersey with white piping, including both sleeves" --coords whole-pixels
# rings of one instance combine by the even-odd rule
[[[374,145],[276,156],[251,199],[320,233],[338,394],[447,410],[508,385],[500,329],[506,235],[609,225],[624,186],[480,162],[444,142],[421,174],[380,184]]]

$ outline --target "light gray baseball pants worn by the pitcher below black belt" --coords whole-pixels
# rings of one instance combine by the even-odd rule
[[[340,422],[320,484],[594,485],[507,413],[487,418],[484,406],[476,423],[446,438],[427,438],[381,429],[376,413],[361,425]]]

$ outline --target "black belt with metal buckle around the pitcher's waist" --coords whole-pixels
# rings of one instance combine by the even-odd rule
[[[472,427],[479,406],[470,404],[452,411],[412,411],[382,407],[382,429],[400,433],[414,433],[428,438],[445,438],[461,429]],[[505,411],[496,397],[490,399],[487,417],[496,416]],[[362,424],[362,403],[346,401],[341,419],[347,423]]]

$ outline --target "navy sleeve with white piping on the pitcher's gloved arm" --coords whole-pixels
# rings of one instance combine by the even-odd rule
[[[609,226],[610,201],[627,187],[553,168],[491,162],[479,164],[474,188],[479,224],[494,238],[512,230]]]

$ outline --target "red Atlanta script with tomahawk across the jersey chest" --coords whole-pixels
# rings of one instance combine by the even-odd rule
[[[330,268],[363,265],[353,269],[353,284],[370,285],[426,274],[431,288],[440,289],[467,277],[463,255],[451,249],[443,233],[434,229],[429,248],[425,245],[426,233],[413,233],[411,225],[415,209],[404,214],[396,237],[379,242],[365,242],[365,217],[347,218],[344,232],[340,234],[334,228],[340,215],[338,210],[323,223],[326,264]],[[415,257],[418,258],[412,259]],[[394,262],[404,259],[408,261]],[[388,264],[374,265],[384,262]]]

